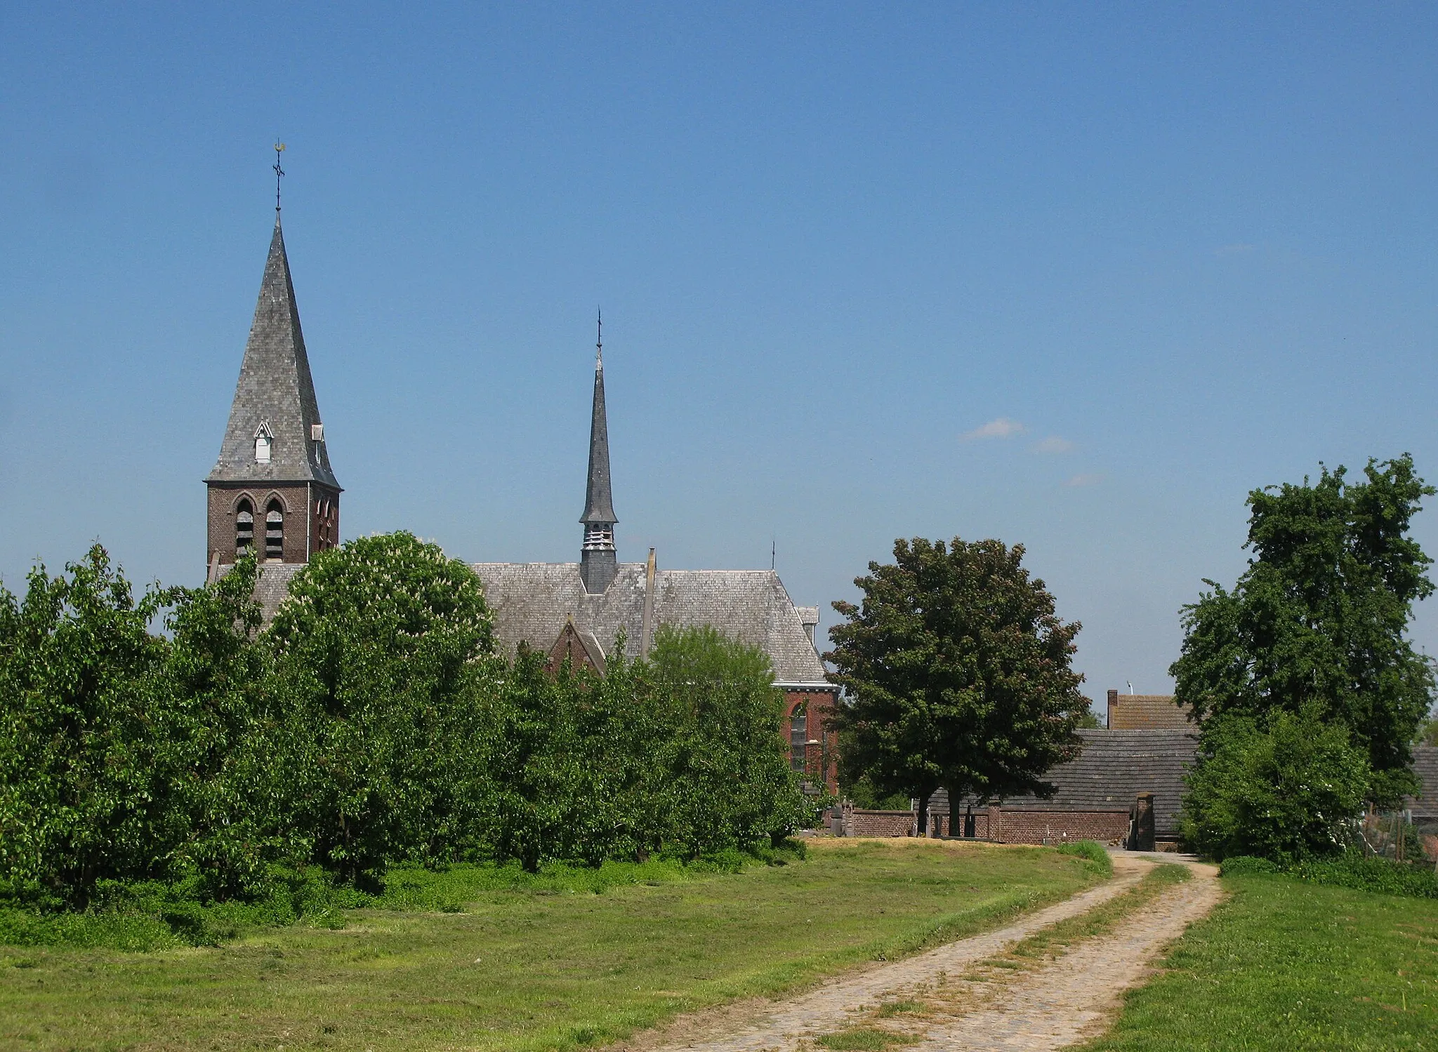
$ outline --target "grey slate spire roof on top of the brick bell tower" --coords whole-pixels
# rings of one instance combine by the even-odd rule
[[[230,423],[206,481],[313,481],[339,490],[329,469],[278,208]]]

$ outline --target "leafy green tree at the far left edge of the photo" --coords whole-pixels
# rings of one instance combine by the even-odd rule
[[[29,575],[24,602],[0,589],[0,880],[83,904],[96,881],[158,875],[183,831],[152,704],[167,654],[95,545],[65,575]]]

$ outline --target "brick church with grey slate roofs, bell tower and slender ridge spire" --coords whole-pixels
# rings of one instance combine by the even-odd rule
[[[226,573],[239,555],[260,559],[256,599],[266,621],[289,582],[316,552],[339,537],[339,494],[329,466],[325,425],[299,325],[279,207],[259,302],[220,456],[207,489],[207,579]],[[811,792],[837,792],[837,736],[830,713],[838,688],[828,683],[814,629],[818,606],[797,606],[778,573],[768,571],[659,569],[620,562],[614,543],[604,349],[595,348],[594,402],[578,562],[479,562],[475,572],[508,654],[521,642],[604,674],[618,638],[627,658],[643,657],[660,627],[709,625],[769,655],[784,691],[785,747]]]

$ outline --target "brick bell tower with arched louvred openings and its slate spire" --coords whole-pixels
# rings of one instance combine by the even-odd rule
[[[341,487],[329,470],[279,208],[230,423],[204,484],[211,578],[246,549],[263,563],[295,565],[338,543]]]

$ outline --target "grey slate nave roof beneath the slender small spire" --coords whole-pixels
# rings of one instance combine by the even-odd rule
[[[624,652],[638,657],[644,622],[644,563],[621,562],[604,592],[584,589],[577,562],[480,562],[485,598],[495,612],[495,635],[506,652],[521,641],[548,650],[565,618],[613,651],[620,629]],[[654,575],[654,629],[712,625],[762,648],[778,683],[825,683],[824,665],[798,609],[774,571],[673,571]]]

